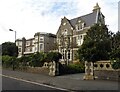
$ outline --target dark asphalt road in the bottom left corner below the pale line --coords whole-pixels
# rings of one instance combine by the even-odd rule
[[[51,90],[55,92],[61,92],[59,89],[51,88],[43,84],[37,84],[35,82],[30,82],[22,79],[13,79],[5,76],[2,77],[2,90]]]

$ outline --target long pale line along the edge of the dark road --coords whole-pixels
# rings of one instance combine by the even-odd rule
[[[3,74],[0,74],[0,75],[4,76],[4,77],[7,77],[7,78],[11,78],[11,79],[15,79],[15,80],[19,80],[19,81],[31,83],[31,84],[36,84],[36,85],[45,86],[45,87],[49,87],[49,88],[53,88],[53,89],[58,89],[58,90],[63,90],[63,91],[69,91],[69,90],[64,89],[64,88],[53,87],[53,86],[49,86],[49,85],[45,85],[45,84],[41,84],[41,83],[37,83],[37,82],[33,82],[33,81],[28,81],[28,80],[24,80],[24,79],[19,79],[19,78],[15,78],[15,77],[3,75]]]

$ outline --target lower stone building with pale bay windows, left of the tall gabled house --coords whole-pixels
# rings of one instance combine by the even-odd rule
[[[17,39],[18,57],[35,52],[49,52],[55,49],[56,35],[51,33],[35,33],[34,38]]]

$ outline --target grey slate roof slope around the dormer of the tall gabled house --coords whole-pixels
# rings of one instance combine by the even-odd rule
[[[88,26],[91,26],[94,23],[96,23],[96,16],[97,16],[97,11],[94,11],[90,14],[71,19],[71,20],[69,20],[69,22],[73,27],[75,27],[75,24],[77,23],[78,19],[80,18],[81,20],[83,20],[85,22],[85,26],[88,27]]]

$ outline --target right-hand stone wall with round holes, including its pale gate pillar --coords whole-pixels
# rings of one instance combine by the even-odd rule
[[[85,62],[84,79],[105,79],[120,81],[120,69],[112,68],[110,61]]]

